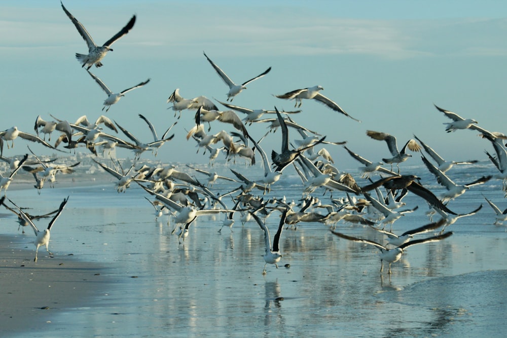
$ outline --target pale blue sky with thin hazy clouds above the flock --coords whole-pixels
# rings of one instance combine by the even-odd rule
[[[67,0],[64,5],[97,44],[136,14],[135,26],[112,46],[104,66],[90,71],[114,92],[148,78],[151,82],[104,113],[105,93],[75,58],[75,53],[87,52],[86,43],[60,2],[4,0],[0,130],[17,126],[34,133],[38,115],[74,122],[82,115],[95,120],[104,114],[141,141],[151,141],[137,115],[147,117],[162,134],[176,121],[166,102],[176,88],[186,98],[227,98],[228,87],[206,61],[205,51],[236,83],[272,67],[234,98],[239,106],[291,110],[294,101],[273,95],[322,86],[323,95],[361,123],[314,100],[303,101],[303,111],[293,119],[327,135],[328,141],[347,141],[352,151],[371,161],[390,156],[385,142],[369,138],[367,130],[394,135],[400,148],[416,135],[448,160],[487,160],[484,151],[493,152],[490,142],[471,130],[446,133],[444,123],[450,121],[433,104],[473,118],[487,130],[507,133],[504,1]],[[193,125],[194,111],[183,111],[173,140],[157,159],[207,163],[207,156],[196,154],[195,142],[185,138]],[[264,124],[247,128],[254,138],[267,131]],[[223,129],[233,130],[212,123],[212,133]],[[289,137],[300,135],[290,130]],[[271,149],[279,151],[280,140],[277,132],[261,146],[269,155]],[[24,153],[26,144],[15,141],[4,154]],[[339,169],[359,166],[341,146],[326,147]],[[42,146],[32,149],[52,153]],[[121,149],[118,157],[133,156]],[[419,156],[409,161],[422,163]]]

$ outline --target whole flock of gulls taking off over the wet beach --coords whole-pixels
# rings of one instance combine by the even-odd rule
[[[102,59],[107,52],[113,51],[111,46],[121,37],[125,36],[134,26],[136,16],[132,16],[127,25],[123,27],[110,40],[102,46],[98,46],[93,41],[85,27],[72,15],[61,3],[61,7],[67,17],[76,26],[78,32],[83,37],[88,46],[88,54],[76,54],[76,58],[82,64],[83,68],[97,82],[97,84],[106,92],[107,98],[104,101],[104,107],[107,112],[110,107],[117,103],[121,97],[134,89],[147,85],[150,79],[141,82],[136,86],[125,89],[119,93],[114,93],[97,77],[90,72],[90,68],[102,66]],[[195,126],[188,131],[187,141],[193,139],[196,141],[197,153],[209,154],[209,167],[212,168],[213,161],[221,154],[225,155],[227,161],[236,161],[243,159],[245,167],[262,166],[264,174],[260,179],[252,179],[243,173],[231,169],[230,175],[219,175],[215,172],[206,171],[188,165],[188,170],[178,171],[174,165],[150,167],[140,161],[142,154],[152,152],[156,156],[158,149],[165,142],[170,141],[174,134],[168,135],[177,121],[170,125],[162,137],[159,137],[154,125],[144,116],[139,115],[148,125],[153,134],[153,141],[141,142],[131,132],[120,126],[117,122],[101,115],[94,122],[90,122],[86,116],[79,118],[71,123],[64,119],[55,117],[54,121],[45,121],[38,116],[35,121],[35,134],[30,134],[18,130],[17,127],[9,128],[0,132],[0,151],[1,159],[8,162],[11,172],[6,177],[1,178],[0,192],[4,190],[1,204],[11,210],[18,216],[20,226],[30,226],[37,238],[35,239],[35,258],[41,246],[51,254],[48,248],[50,239],[50,229],[58,216],[63,211],[69,197],[61,202],[58,209],[45,215],[29,215],[23,208],[18,207],[13,201],[7,198],[7,190],[16,173],[23,169],[31,173],[35,178],[34,187],[41,192],[44,183],[49,181],[52,184],[55,181],[57,173],[69,174],[79,165],[55,165],[58,159],[42,161],[37,155],[31,152],[31,156],[26,154],[22,159],[11,159],[4,157],[4,141],[7,147],[14,146],[14,140],[19,136],[23,139],[38,142],[44,146],[62,151],[60,144],[65,144],[66,149],[76,151],[78,147],[86,147],[87,151],[96,155],[94,161],[116,178],[115,185],[118,192],[126,192],[132,182],[139,184],[147,196],[145,197],[155,209],[155,217],[159,218],[164,213],[169,213],[170,222],[174,224],[172,233],[177,235],[180,243],[189,236],[189,227],[196,222],[201,215],[222,214],[223,221],[220,224],[219,232],[223,227],[228,227],[232,231],[233,224],[238,218],[242,224],[250,220],[255,221],[265,236],[265,265],[263,274],[266,274],[268,264],[275,265],[281,259],[280,237],[285,228],[296,229],[299,223],[312,222],[322,223],[330,227],[332,234],[337,237],[358,243],[364,243],[376,247],[379,250],[381,261],[380,272],[382,274],[384,262],[389,265],[388,273],[391,273],[391,263],[397,261],[402,256],[404,250],[416,244],[444,240],[452,235],[447,231],[447,227],[456,222],[457,219],[464,216],[473,215],[482,208],[482,204],[475,210],[466,214],[457,214],[452,211],[450,201],[458,199],[465,194],[468,189],[477,184],[483,184],[490,179],[501,179],[503,181],[503,190],[507,191],[507,150],[503,144],[507,138],[502,133],[489,132],[478,126],[477,121],[473,119],[463,119],[454,112],[436,108],[450,119],[446,123],[446,131],[472,129],[478,131],[480,135],[489,140],[494,148],[494,154],[486,152],[488,158],[496,168],[496,172],[488,176],[477,178],[467,184],[455,183],[447,174],[453,165],[474,164],[477,161],[455,162],[445,161],[429,145],[424,143],[414,135],[414,139],[408,140],[404,146],[399,149],[396,138],[384,132],[368,130],[366,133],[373,140],[385,141],[390,153],[390,157],[382,158],[377,162],[370,161],[354,153],[346,142],[332,142],[326,140],[327,137],[320,135],[316,131],[309,130],[295,122],[292,118],[301,112],[303,100],[316,100],[330,109],[338,112],[343,118],[350,118],[360,122],[350,116],[336,102],[321,94],[321,86],[308,87],[304,89],[293,90],[281,95],[275,95],[280,99],[294,100],[295,108],[293,111],[279,111],[276,107],[273,110],[249,109],[233,105],[231,102],[246,89],[246,85],[265,77],[271,70],[271,67],[242,84],[233,82],[227,74],[216,65],[205,53],[206,60],[219,77],[229,87],[227,93],[227,102],[218,101],[225,106],[227,110],[220,110],[212,100],[205,96],[199,96],[192,99],[185,99],[179,93],[179,89],[167,99],[170,109],[174,110],[174,117],[177,114],[180,119],[182,111],[195,111],[193,119]],[[242,114],[244,118],[240,118]],[[272,118],[265,119],[264,115],[270,115]],[[337,116],[338,117],[338,116]],[[268,124],[268,131],[262,137],[253,136],[248,130],[253,123]],[[216,134],[208,134],[213,126],[230,127],[232,131],[222,130]],[[207,125],[207,129],[206,129]],[[103,131],[103,127],[111,130],[110,133]],[[280,131],[281,145],[277,149],[271,150],[268,156],[261,147],[263,139],[268,133],[277,133]],[[296,133],[300,139],[289,137]],[[60,132],[54,145],[50,144],[53,132]],[[123,133],[125,137],[115,136],[114,133]],[[42,135],[41,135],[42,134]],[[42,136],[42,138],[41,138]],[[46,141],[48,137],[48,141]],[[125,139],[126,138],[126,139]],[[11,144],[9,144],[9,141]],[[339,146],[345,149],[353,159],[361,164],[361,177],[354,178],[350,173],[342,172],[334,166],[334,160],[331,152],[323,147]],[[101,149],[102,158],[110,156],[110,152],[115,147],[130,149],[135,154],[135,164],[127,170],[124,170],[118,160],[111,158],[111,166],[99,161],[97,149]],[[318,150],[317,150],[318,149]],[[437,196],[429,189],[423,186],[420,178],[413,174],[402,174],[399,164],[407,161],[414,154],[419,153],[423,164],[429,172],[436,177],[437,182],[445,188],[445,193]],[[259,157],[262,161],[258,161]],[[256,159],[257,158],[257,159]],[[239,160],[238,160],[239,161]],[[396,165],[396,169],[393,167]],[[388,168],[389,166],[389,168]],[[301,200],[286,201],[284,196],[276,196],[276,184],[284,174],[285,170],[290,168],[295,170],[301,178]],[[197,177],[203,177],[197,178]],[[374,179],[375,178],[375,179]],[[203,181],[206,180],[206,182]],[[213,184],[216,180],[226,180],[234,189],[227,192],[217,191]],[[203,183],[204,182],[204,183]],[[316,194],[321,196],[317,198]],[[327,192],[331,192],[326,194]],[[393,231],[393,223],[407,213],[413,212],[418,207],[403,209],[405,202],[403,198],[407,194],[415,194],[421,200],[425,201],[431,212],[430,223],[425,226],[407,231],[401,235],[396,235]],[[340,196],[340,197],[337,197]],[[231,203],[227,201],[230,199]],[[491,200],[484,197],[487,203],[496,213],[495,224],[501,224],[507,220],[507,209],[500,210]],[[9,205],[10,203],[10,205]],[[279,214],[280,219],[278,228],[273,238],[270,239],[269,229],[266,225],[268,217],[272,214]],[[432,221],[434,213],[440,215],[436,222]],[[239,216],[237,216],[239,215]],[[49,226],[45,231],[39,231],[35,227],[33,220],[52,217]],[[386,236],[384,244],[377,243],[370,239],[348,236],[336,231],[336,224],[340,221],[375,229]],[[389,227],[389,230],[386,227]],[[437,233],[429,237],[420,237],[425,233]],[[418,239],[414,237],[418,236]]]

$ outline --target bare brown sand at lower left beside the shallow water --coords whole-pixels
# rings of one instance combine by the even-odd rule
[[[41,247],[35,263],[35,247],[24,245],[20,235],[0,236],[2,336],[47,328],[56,316],[93,304],[94,299],[103,295],[101,285],[109,282],[104,273],[106,268],[94,262],[73,255],[51,258]]]

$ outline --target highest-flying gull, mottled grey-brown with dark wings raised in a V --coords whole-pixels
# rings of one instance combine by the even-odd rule
[[[93,41],[92,37],[88,32],[86,31],[86,28],[83,26],[81,22],[79,22],[74,15],[70,14],[69,11],[63,6],[63,3],[60,1],[60,4],[62,5],[62,9],[67,14],[68,18],[76,28],[78,29],[79,34],[83,37],[86,44],[88,45],[88,54],[78,54],[76,53],[76,59],[78,59],[79,62],[81,62],[83,65],[82,67],[87,67],[86,69],[90,69],[93,64],[95,64],[96,67],[100,67],[102,63],[100,60],[107,54],[108,51],[113,51],[113,49],[110,47],[113,45],[117,40],[119,40],[123,35],[127,34],[132,27],[134,27],[135,23],[135,15],[132,16],[130,21],[127,23],[125,27],[123,27],[118,33],[115,34],[111,39],[107,40],[102,46],[97,46],[95,42]]]

